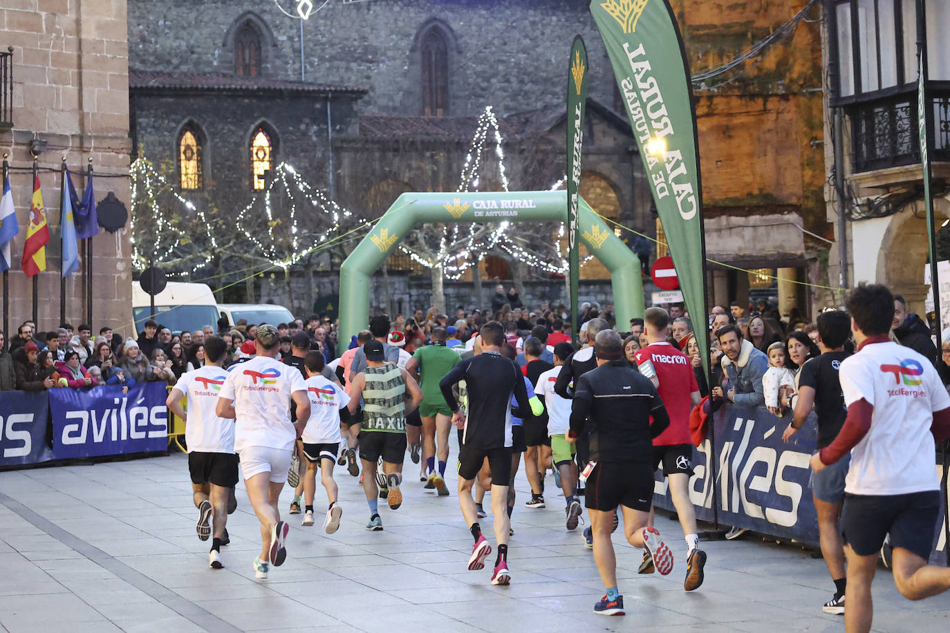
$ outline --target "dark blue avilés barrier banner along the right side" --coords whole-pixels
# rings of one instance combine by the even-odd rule
[[[790,420],[776,418],[766,408],[724,406],[714,415],[716,493],[720,526],[746,528],[769,536],[794,539],[817,547],[818,519],[811,497],[808,460],[815,452],[817,427],[811,414],[788,444],[782,433]],[[712,523],[710,439],[693,451],[690,500],[696,518]],[[942,467],[937,466],[938,475]],[[674,511],[665,479],[656,475],[654,503]],[[946,489],[943,491],[947,493]],[[930,562],[946,565],[946,516],[934,526]]]

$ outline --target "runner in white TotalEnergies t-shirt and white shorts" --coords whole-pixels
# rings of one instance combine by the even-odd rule
[[[254,561],[257,578],[267,578],[270,566],[283,565],[290,527],[280,520],[277,501],[287,481],[295,439],[310,419],[307,385],[300,372],[276,360],[280,337],[275,326],[257,328],[257,356],[237,366],[221,386],[216,411],[234,418],[235,450],[240,456],[244,487],[260,521],[260,555]],[[291,400],[296,423],[291,422]]]

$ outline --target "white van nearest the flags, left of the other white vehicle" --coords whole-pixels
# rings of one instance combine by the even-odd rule
[[[135,331],[141,332],[151,315],[151,297],[139,282],[132,282],[132,317]],[[155,295],[155,321],[173,332],[212,326],[218,331],[218,303],[207,284],[170,281]]]

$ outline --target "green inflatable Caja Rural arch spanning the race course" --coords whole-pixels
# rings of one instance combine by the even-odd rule
[[[643,282],[637,256],[580,199],[580,241],[610,270],[618,326],[643,315]],[[340,267],[340,337],[349,341],[370,322],[370,276],[420,223],[564,222],[567,192],[403,194]]]

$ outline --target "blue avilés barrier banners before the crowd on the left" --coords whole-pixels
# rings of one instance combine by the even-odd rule
[[[137,384],[124,394],[121,386],[2,392],[0,468],[165,451],[165,392],[158,382]]]

